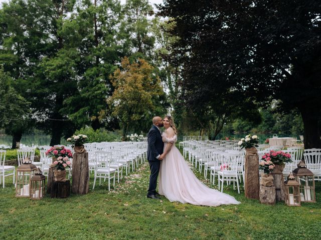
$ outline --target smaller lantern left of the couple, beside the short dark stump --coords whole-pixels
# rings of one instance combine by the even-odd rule
[[[35,171],[35,175],[30,178],[30,199],[41,199],[45,196],[46,177],[42,174],[39,167]]]

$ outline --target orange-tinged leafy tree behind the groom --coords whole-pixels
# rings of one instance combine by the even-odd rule
[[[157,104],[155,99],[164,92],[158,77],[152,76],[153,67],[144,59],[130,64],[125,57],[121,67],[122,70],[117,69],[112,76],[115,90],[108,103],[112,114],[120,120],[125,138],[129,130],[147,131],[150,124],[143,122],[151,123],[151,114],[162,113],[162,109],[157,108],[162,102]]]

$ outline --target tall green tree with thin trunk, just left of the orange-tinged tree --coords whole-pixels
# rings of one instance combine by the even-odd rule
[[[126,35],[120,27],[123,18],[118,0],[83,0],[77,7],[76,21],[81,40],[77,64],[79,94],[66,99],[68,116],[77,124],[98,129],[100,112],[113,90],[109,76],[125,56]]]

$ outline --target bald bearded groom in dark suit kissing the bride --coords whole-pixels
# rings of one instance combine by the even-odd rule
[[[147,134],[147,159],[150,167],[149,188],[147,197],[153,199],[160,199],[159,194],[156,192],[157,177],[159,168],[161,167],[161,160],[163,160],[164,142],[162,140],[161,129],[163,120],[160,116],[152,118],[153,126],[149,129]]]

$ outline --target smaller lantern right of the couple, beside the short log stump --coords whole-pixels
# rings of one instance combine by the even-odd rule
[[[284,191],[284,199],[285,204],[289,206],[300,206],[301,198],[300,198],[300,184],[295,180],[295,177],[292,173],[290,173],[287,177],[287,180],[284,181],[285,191]]]

